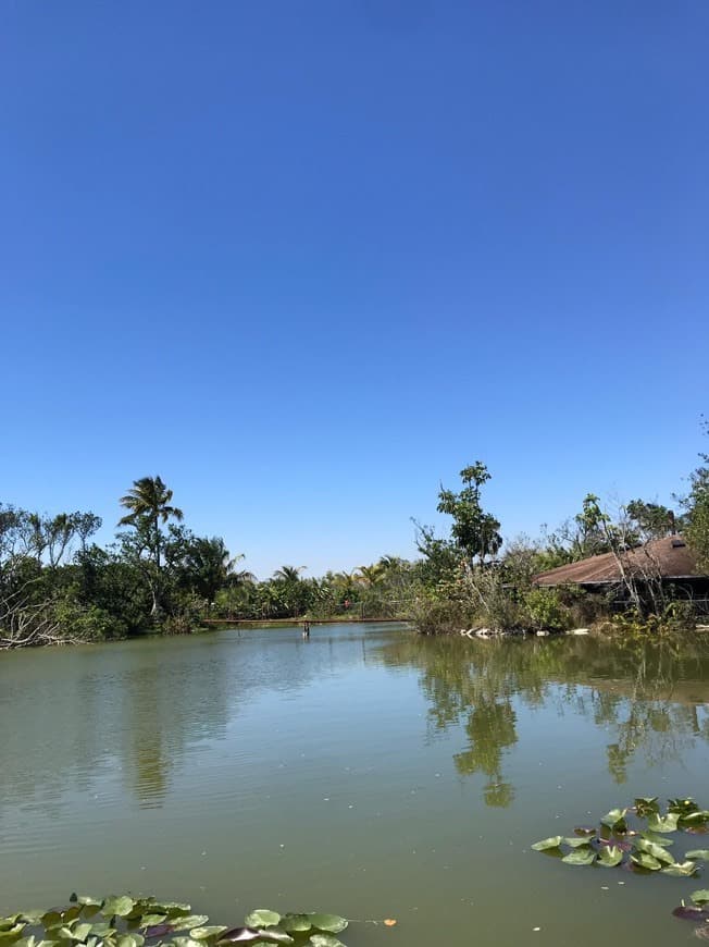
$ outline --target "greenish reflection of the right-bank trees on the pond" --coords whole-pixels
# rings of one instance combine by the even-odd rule
[[[488,805],[507,807],[514,787],[505,755],[519,741],[526,709],[572,711],[611,734],[606,747],[613,780],[631,761],[680,761],[697,740],[709,741],[709,642],[593,637],[470,641],[407,637],[382,649],[390,665],[413,665],[428,702],[434,733],[462,726],[467,746],[453,755],[462,776],[486,778]]]

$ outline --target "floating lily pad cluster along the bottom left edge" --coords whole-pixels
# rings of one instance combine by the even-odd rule
[[[247,915],[244,926],[227,927],[174,901],[72,895],[66,908],[0,918],[0,947],[228,947],[241,942],[252,947],[344,947],[335,935],[347,924],[336,914],[279,914],[261,908]]]

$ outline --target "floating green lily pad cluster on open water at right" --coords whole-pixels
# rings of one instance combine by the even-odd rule
[[[674,839],[668,836],[707,831],[709,810],[700,809],[693,799],[670,799],[662,813],[657,797],[639,797],[627,809],[611,809],[598,827],[579,826],[573,836],[553,835],[532,848],[557,856],[567,864],[598,864],[692,877],[699,871],[699,862],[709,862],[709,849],[693,849],[677,856],[670,850]]]

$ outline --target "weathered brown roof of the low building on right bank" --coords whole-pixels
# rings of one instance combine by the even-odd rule
[[[663,579],[687,579],[701,576],[694,553],[680,536],[656,539],[637,549],[621,553],[623,568],[635,576],[660,576]],[[589,556],[568,566],[559,566],[534,577],[537,586],[594,586],[621,580],[620,566],[613,553]]]

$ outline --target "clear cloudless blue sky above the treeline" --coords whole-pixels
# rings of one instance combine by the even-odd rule
[[[702,444],[706,0],[4,0],[0,499],[160,474],[260,576],[669,501]]]

